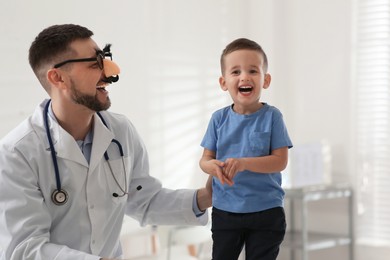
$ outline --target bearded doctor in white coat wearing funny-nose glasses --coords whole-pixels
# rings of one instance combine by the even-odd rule
[[[142,225],[207,222],[209,182],[162,188],[134,126],[106,111],[119,67],[92,35],[54,25],[30,47],[50,100],[0,141],[1,260],[119,259],[124,214]]]

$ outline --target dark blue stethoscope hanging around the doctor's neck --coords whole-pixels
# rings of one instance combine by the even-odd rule
[[[58,169],[58,162],[57,162],[57,156],[56,156],[56,151],[54,150],[54,145],[53,145],[53,139],[51,138],[51,134],[50,134],[50,129],[49,129],[49,105],[51,103],[51,100],[49,100],[45,106],[45,109],[44,109],[44,121],[45,121],[45,128],[46,128],[46,135],[47,135],[47,139],[49,140],[49,145],[50,145],[50,153],[51,153],[51,158],[52,158],[52,161],[53,161],[53,165],[54,165],[54,172],[55,172],[55,177],[56,177],[56,185],[57,185],[57,189],[55,189],[53,191],[53,193],[51,194],[51,200],[53,201],[54,204],[56,205],[64,205],[67,201],[68,201],[68,198],[69,198],[69,195],[68,193],[66,192],[66,190],[62,189],[61,187],[61,178],[60,178],[60,171]],[[102,120],[103,124],[107,127],[107,124],[106,124],[106,121],[103,119],[103,116],[97,112],[98,116],[100,117],[100,119]],[[122,149],[122,145],[120,144],[120,142],[116,139],[112,139],[111,140],[112,143],[115,143],[118,147],[118,150],[119,150],[119,153],[121,155],[121,158],[122,158],[122,165],[123,165],[123,170],[124,170],[124,182],[125,182],[125,186],[124,188],[122,188],[122,186],[120,185],[120,183],[118,182],[118,179],[115,177],[114,175],[114,172],[112,171],[112,168],[111,168],[111,164],[110,164],[110,161],[109,161],[109,156],[108,156],[108,153],[107,151],[104,152],[104,158],[106,159],[107,163],[108,163],[108,167],[110,169],[110,172],[111,172],[111,175],[112,177],[114,178],[115,180],[115,183],[118,185],[119,189],[121,190],[122,194],[118,194],[118,193],[113,193],[112,196],[113,197],[123,197],[125,195],[128,194],[128,187],[127,187],[127,177],[126,177],[126,167],[125,167],[125,162],[124,162],[124,153],[123,153],[123,149]],[[137,190],[140,190],[142,187],[139,186],[137,187]]]

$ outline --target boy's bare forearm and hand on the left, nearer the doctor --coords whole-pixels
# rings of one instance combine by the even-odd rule
[[[217,177],[222,184],[233,185],[232,179],[227,178],[223,173],[225,163],[215,159],[214,151],[205,148],[200,158],[199,166],[205,173]]]

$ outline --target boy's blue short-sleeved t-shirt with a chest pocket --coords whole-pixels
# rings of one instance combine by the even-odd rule
[[[216,152],[216,159],[259,157],[281,147],[292,147],[281,112],[265,104],[249,115],[237,114],[232,106],[213,113],[201,146]],[[228,212],[249,213],[283,206],[280,172],[243,171],[234,185],[221,185],[213,178],[213,206]]]

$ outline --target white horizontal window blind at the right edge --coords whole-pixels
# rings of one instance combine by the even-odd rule
[[[390,245],[390,1],[355,0],[357,242]]]

